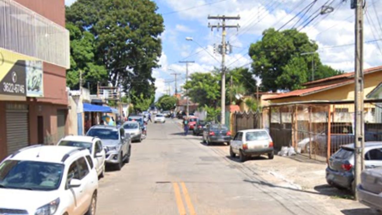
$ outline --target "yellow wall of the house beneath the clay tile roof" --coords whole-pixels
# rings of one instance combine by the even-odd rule
[[[382,71],[365,75],[364,98],[382,81]],[[354,100],[354,83],[320,91],[306,96],[297,96],[283,99],[270,100],[271,103],[287,103],[293,101],[311,101],[311,100]]]

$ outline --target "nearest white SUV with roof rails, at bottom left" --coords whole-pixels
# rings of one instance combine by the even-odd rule
[[[34,145],[0,163],[0,214],[94,215],[97,189],[88,150]]]

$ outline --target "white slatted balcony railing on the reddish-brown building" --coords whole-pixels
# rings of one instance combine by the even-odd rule
[[[70,68],[69,31],[13,0],[0,0],[0,47]]]

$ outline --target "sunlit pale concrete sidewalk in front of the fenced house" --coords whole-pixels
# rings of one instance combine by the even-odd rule
[[[229,147],[219,147],[229,155]],[[339,190],[327,184],[325,179],[326,163],[310,160],[302,155],[290,157],[275,156],[268,160],[266,156],[252,158],[244,166],[263,173],[268,182],[287,189],[297,189],[309,193],[325,204],[333,205],[345,215],[378,215],[380,213],[352,200],[350,191]]]

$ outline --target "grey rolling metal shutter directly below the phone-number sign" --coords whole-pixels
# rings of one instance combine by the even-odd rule
[[[12,106],[9,106],[6,110],[6,140],[8,154],[29,145],[28,106],[26,106],[26,109],[12,108]]]

